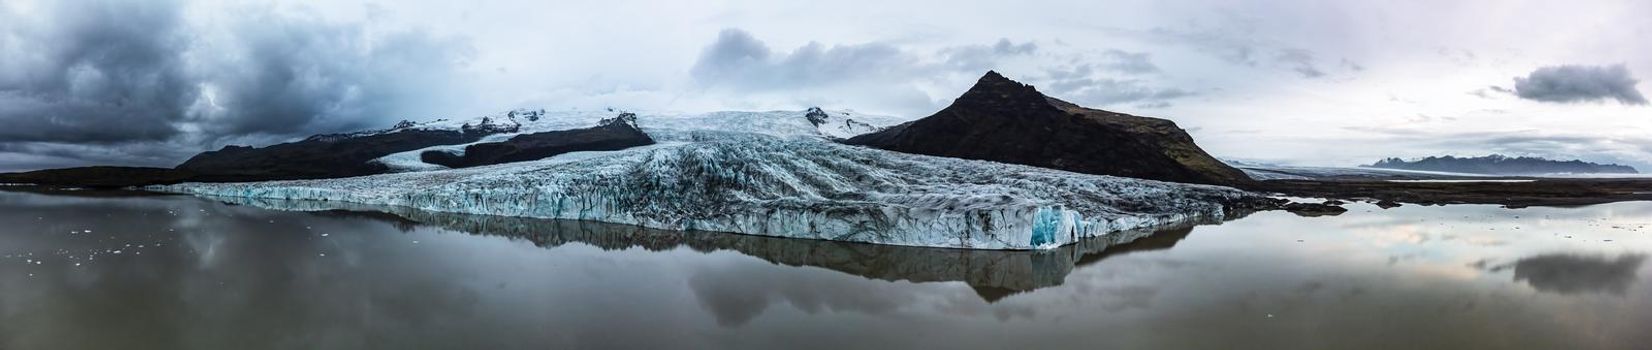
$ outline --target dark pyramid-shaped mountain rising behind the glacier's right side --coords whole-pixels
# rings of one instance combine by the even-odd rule
[[[1165,182],[1251,182],[1171,121],[1080,107],[991,71],[947,109],[846,144]]]

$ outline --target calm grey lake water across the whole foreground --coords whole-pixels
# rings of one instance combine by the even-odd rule
[[[0,348],[1647,348],[1652,203],[1046,253],[0,192]]]

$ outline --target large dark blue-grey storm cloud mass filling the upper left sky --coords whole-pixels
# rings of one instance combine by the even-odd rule
[[[0,154],[35,158],[167,165],[225,140],[395,121],[468,54],[420,31],[370,36],[259,7],[213,23],[188,21],[173,0],[7,8]]]

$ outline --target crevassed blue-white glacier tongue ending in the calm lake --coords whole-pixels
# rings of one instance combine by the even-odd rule
[[[1221,203],[1254,196],[818,139],[686,139],[704,140],[463,170],[150,190],[975,249],[1221,220]]]

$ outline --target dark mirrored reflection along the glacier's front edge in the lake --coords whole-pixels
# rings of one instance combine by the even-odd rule
[[[1170,249],[1193,228],[1127,231],[1085,239],[1044,251],[983,251],[917,246],[887,246],[823,239],[768,238],[729,233],[684,233],[631,225],[517,216],[458,215],[410,208],[358,206],[347,203],[233,200],[244,205],[306,210],[324,216],[354,216],[390,221],[401,229],[418,225],[451,231],[509,236],[540,248],[582,243],[601,249],[669,251],[687,248],[700,253],[733,251],[783,266],[811,266],[867,279],[910,282],[965,282],[996,302],[1013,294],[1061,286],[1079,266],[1132,253]]]

